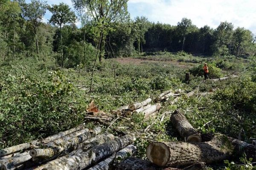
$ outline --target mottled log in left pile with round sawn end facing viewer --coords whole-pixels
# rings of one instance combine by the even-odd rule
[[[47,149],[32,149],[29,154],[32,157],[41,157],[41,158],[51,158],[53,156],[58,156],[59,153],[70,150],[71,148],[77,148],[80,143],[85,140],[95,136],[101,132],[101,127],[96,127],[90,132],[81,134],[77,137],[69,139],[68,141],[62,141],[60,143],[56,143],[55,141],[49,142],[44,145]],[[54,157],[53,157],[54,158]]]

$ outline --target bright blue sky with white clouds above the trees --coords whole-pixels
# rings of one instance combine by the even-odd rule
[[[29,0],[26,0],[29,2]],[[71,0],[48,0],[48,4],[67,3]],[[234,27],[244,27],[256,33],[256,0],[129,0],[131,18],[145,16],[151,22],[177,25],[183,17],[199,28],[208,25],[217,28],[228,21]],[[47,12],[47,22],[51,14]]]

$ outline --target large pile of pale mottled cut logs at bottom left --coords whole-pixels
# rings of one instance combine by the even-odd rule
[[[132,156],[134,134],[115,137],[80,125],[46,139],[0,150],[1,170],[107,170]]]

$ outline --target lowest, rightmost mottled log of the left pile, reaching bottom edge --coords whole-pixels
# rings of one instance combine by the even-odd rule
[[[137,148],[134,145],[129,145],[88,170],[109,170],[115,167],[118,164],[119,160],[121,161],[129,156],[132,156],[136,149]]]

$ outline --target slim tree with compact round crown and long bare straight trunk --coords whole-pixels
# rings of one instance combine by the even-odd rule
[[[52,17],[49,22],[53,25],[59,26],[60,36],[61,36],[61,67],[63,67],[63,44],[62,44],[62,33],[61,28],[67,23],[74,23],[76,21],[76,15],[69,6],[65,3],[60,3],[59,5],[52,5],[48,8],[52,13]]]

